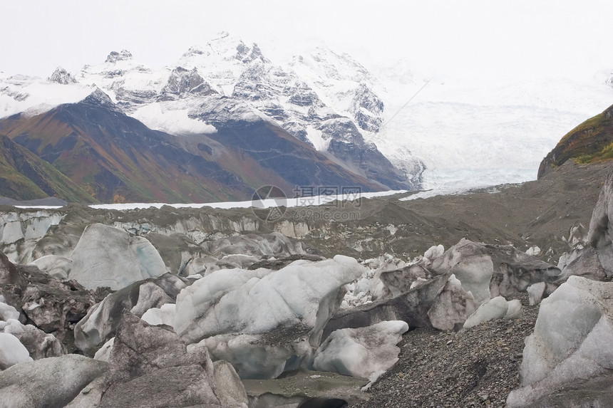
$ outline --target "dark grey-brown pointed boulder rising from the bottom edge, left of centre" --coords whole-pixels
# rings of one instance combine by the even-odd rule
[[[204,347],[188,351],[168,328],[149,325],[124,310],[99,407],[222,407],[214,376]]]

